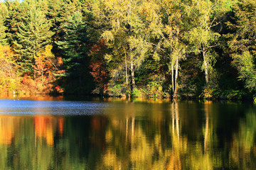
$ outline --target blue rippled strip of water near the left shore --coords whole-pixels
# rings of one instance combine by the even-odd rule
[[[95,115],[107,103],[95,101],[0,100],[0,113],[9,115]]]

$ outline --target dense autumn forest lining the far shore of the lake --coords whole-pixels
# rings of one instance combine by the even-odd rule
[[[255,21],[255,0],[7,0],[0,93],[253,98]]]

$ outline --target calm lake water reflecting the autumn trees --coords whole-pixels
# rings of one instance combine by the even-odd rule
[[[0,169],[256,169],[252,103],[0,100]]]

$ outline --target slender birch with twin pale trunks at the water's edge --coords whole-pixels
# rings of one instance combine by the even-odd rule
[[[171,71],[174,98],[176,98],[178,92],[179,62],[186,57],[186,45],[183,40],[186,28],[183,27],[184,18],[181,14],[181,4],[181,1],[161,1],[163,21],[159,26],[159,35],[161,36],[159,44],[163,46],[165,54],[169,56],[169,71]]]

